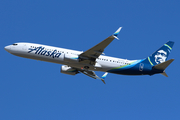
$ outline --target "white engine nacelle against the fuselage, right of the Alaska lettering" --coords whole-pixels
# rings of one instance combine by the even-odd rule
[[[64,61],[66,62],[79,62],[79,57],[73,54],[65,54]]]

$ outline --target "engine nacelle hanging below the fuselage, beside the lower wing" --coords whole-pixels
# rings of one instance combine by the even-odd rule
[[[68,74],[68,75],[76,75],[78,72],[77,69],[74,69],[72,67],[69,67],[67,65],[61,66],[61,73]]]

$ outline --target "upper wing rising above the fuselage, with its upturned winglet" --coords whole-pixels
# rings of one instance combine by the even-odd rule
[[[104,51],[104,49],[116,38],[122,27],[120,27],[113,35],[109,36],[99,44],[90,48],[89,50],[79,55],[80,62],[89,63],[95,65],[96,58],[98,58]]]

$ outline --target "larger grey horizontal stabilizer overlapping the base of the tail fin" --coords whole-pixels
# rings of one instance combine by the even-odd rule
[[[158,70],[165,70],[173,61],[174,59],[170,59],[166,62],[155,65],[153,68]]]

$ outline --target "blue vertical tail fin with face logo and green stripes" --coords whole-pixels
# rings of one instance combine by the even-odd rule
[[[165,62],[172,50],[173,45],[174,42],[168,41],[161,48],[150,55],[147,60],[152,66]]]

